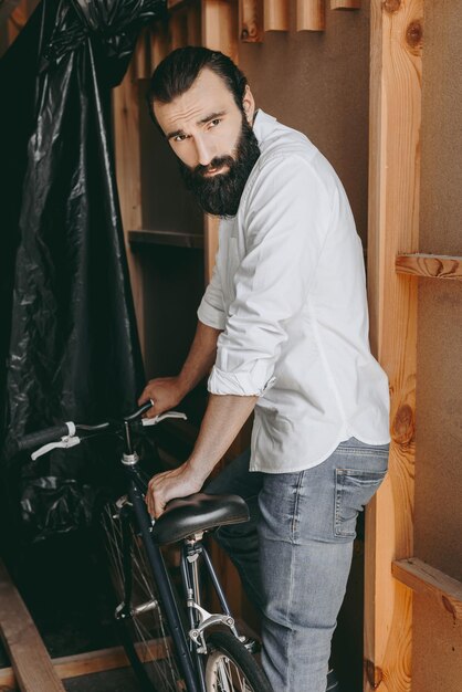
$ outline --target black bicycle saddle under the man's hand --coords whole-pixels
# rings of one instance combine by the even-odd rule
[[[248,521],[249,507],[239,495],[196,493],[167,504],[154,524],[153,538],[157,545],[166,545],[201,531]]]

